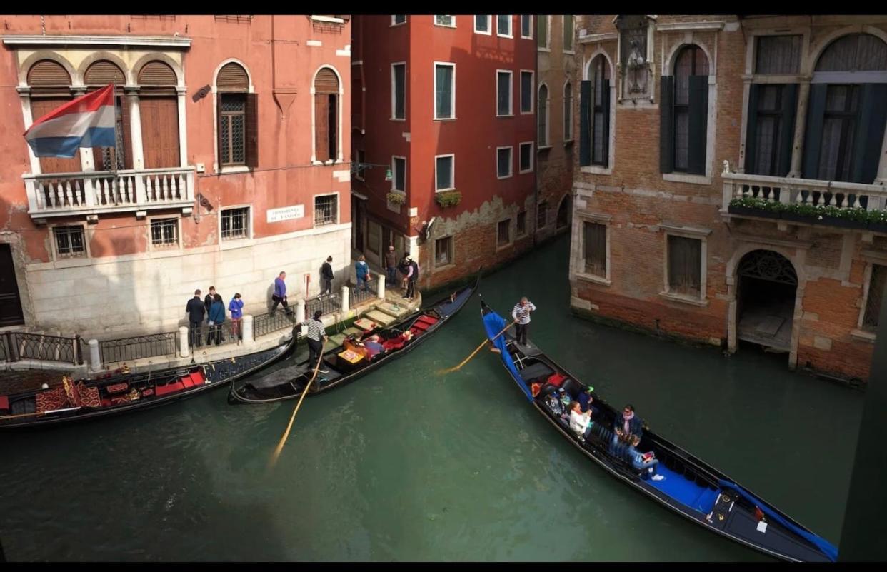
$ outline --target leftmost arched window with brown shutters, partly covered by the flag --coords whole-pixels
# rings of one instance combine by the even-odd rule
[[[31,119],[36,121],[74,98],[71,94],[71,75],[57,61],[41,59],[27,70],[27,85],[31,88]],[[41,157],[43,173],[78,173],[82,171],[80,150],[74,157]]]

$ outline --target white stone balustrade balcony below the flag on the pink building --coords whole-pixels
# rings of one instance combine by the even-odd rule
[[[49,216],[97,215],[105,212],[182,208],[194,201],[193,168],[145,168],[24,175],[27,213]]]

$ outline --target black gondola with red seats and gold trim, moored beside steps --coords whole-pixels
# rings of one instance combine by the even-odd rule
[[[341,387],[412,351],[422,341],[427,340],[432,333],[440,330],[451,317],[465,306],[480,282],[481,278],[478,277],[474,286],[465,286],[430,304],[425,309],[413,312],[395,324],[365,332],[364,339],[373,334],[379,335],[380,344],[385,349],[384,352],[371,357],[370,361],[367,361],[366,356],[363,355],[356,363],[352,364],[345,357],[340,356],[340,354],[354,348],[356,342],[349,338],[346,338],[342,345],[326,350],[321,366],[322,369],[326,369],[326,372],[318,373],[318,380],[315,383],[318,388],[310,390],[310,395]],[[348,345],[349,348],[345,348],[345,345]],[[359,346],[357,349],[360,349]],[[232,382],[228,401],[230,403],[267,404],[301,396],[314,368],[310,367],[306,360],[295,366],[294,369],[296,370],[294,372],[286,370],[275,372],[268,379],[247,380],[239,387]]]

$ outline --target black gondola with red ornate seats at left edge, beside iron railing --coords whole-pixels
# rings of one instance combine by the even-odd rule
[[[169,404],[258,372],[289,356],[295,343],[294,328],[287,343],[247,356],[98,380],[66,378],[56,388],[2,395],[0,429],[52,426]]]

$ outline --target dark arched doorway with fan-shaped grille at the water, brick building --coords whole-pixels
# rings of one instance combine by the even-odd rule
[[[797,272],[772,250],[752,250],[736,267],[736,337],[767,348],[791,351]]]

